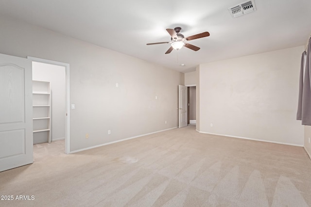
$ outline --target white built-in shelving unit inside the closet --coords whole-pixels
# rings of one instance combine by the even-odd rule
[[[51,143],[51,83],[33,80],[34,144]]]

